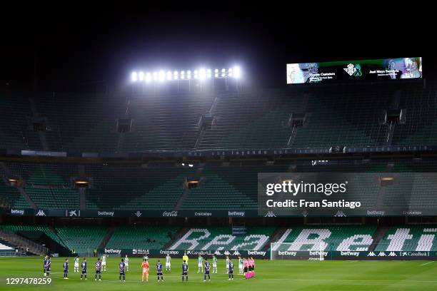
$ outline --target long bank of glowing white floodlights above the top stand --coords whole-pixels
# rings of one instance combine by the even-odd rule
[[[241,69],[239,66],[233,68],[199,68],[194,71],[133,71],[131,73],[131,81],[136,82],[164,82],[164,81],[184,81],[184,80],[200,80],[204,81],[211,78],[241,78]]]

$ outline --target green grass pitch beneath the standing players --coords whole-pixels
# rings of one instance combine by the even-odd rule
[[[118,262],[110,257],[101,282],[94,281],[94,257],[89,257],[88,280],[80,280],[70,258],[69,280],[64,280],[64,258],[52,258],[51,286],[6,285],[6,277],[43,277],[42,257],[1,257],[0,290],[437,290],[437,262],[431,261],[303,261],[257,260],[256,277],[243,280],[235,270],[234,280],[228,281],[224,260],[218,261],[218,274],[211,274],[211,282],[204,282],[197,272],[196,257],[189,261],[189,282],[181,282],[181,258],[172,258],[171,272],[164,272],[164,283],[156,282],[151,272],[149,283],[141,283],[141,258],[130,258],[126,282],[119,282]],[[149,260],[152,270],[156,260]],[[161,262],[164,258],[161,260]]]

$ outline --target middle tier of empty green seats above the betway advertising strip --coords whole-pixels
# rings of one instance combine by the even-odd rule
[[[296,160],[275,165],[250,161],[205,163],[190,168],[181,165],[17,163],[0,167],[0,202],[6,208],[118,209],[118,210],[256,210],[258,173],[436,172],[433,158],[408,160]],[[81,169],[81,170],[79,170]],[[80,191],[71,179],[79,173],[91,178],[91,188]],[[7,177],[21,178],[17,189],[7,185]],[[436,207],[437,185],[426,175],[408,175],[392,185],[381,186],[373,176],[360,177],[348,184],[342,198],[361,201],[362,208]],[[186,179],[199,180],[197,188],[186,189]],[[21,191],[21,193],[20,193]],[[27,197],[26,197],[27,196]],[[307,200],[320,197],[308,193]],[[30,199],[30,200],[29,200]],[[29,201],[29,202],[28,202]],[[177,208],[177,209],[176,209]]]

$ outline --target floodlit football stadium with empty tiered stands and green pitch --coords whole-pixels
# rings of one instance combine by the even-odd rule
[[[263,85],[225,50],[77,85],[38,47],[0,87],[0,290],[437,290],[430,58],[289,50]]]

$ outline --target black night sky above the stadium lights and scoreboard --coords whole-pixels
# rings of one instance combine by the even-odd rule
[[[423,51],[423,29],[403,20],[373,26],[379,15],[326,14],[210,2],[208,9],[37,6],[4,10],[0,88],[88,90],[96,83],[123,86],[135,69],[228,68],[247,81],[286,86],[286,63],[423,56],[434,78],[436,58]],[[169,4],[166,8],[168,9]],[[281,11],[281,12],[278,12]]]

